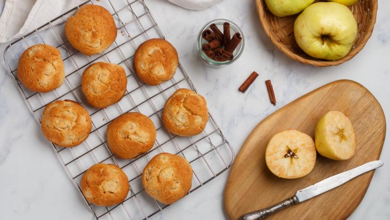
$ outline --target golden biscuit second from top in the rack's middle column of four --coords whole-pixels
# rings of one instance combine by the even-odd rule
[[[89,104],[102,109],[122,99],[126,92],[127,77],[123,67],[98,62],[84,71],[81,86]]]

